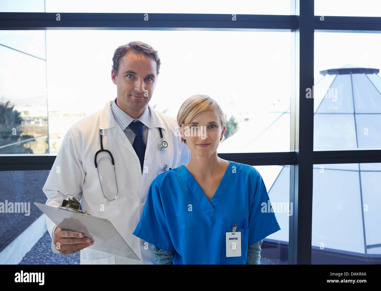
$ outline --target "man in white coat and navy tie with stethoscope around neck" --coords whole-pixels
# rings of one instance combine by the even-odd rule
[[[160,69],[157,51],[146,43],[130,42],[118,47],[112,60],[111,78],[117,85],[117,97],[70,127],[43,191],[48,198],[46,205],[59,207],[66,195],[71,195],[81,201],[82,211],[110,219],[141,260],[88,248],[92,245],[88,238],[61,230],[45,216],[46,226],[53,252],[80,251],[81,264],[156,264],[152,244],[132,233],[151,182],[165,170],[189,162],[190,151],[181,143],[176,120],[148,104]],[[160,147],[163,140],[166,148]],[[117,186],[110,155],[105,151],[96,158],[98,178],[94,157],[101,147],[114,158]]]

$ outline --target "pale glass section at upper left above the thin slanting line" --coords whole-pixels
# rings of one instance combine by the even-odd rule
[[[45,31],[0,31],[0,44],[45,59]]]

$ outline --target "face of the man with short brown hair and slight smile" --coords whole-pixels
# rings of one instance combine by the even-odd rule
[[[157,64],[154,59],[134,53],[123,56],[118,75],[111,72],[112,82],[117,85],[117,105],[131,116],[140,116],[154,92],[156,73]]]

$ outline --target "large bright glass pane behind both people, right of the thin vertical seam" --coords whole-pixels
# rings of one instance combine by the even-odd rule
[[[230,126],[220,153],[290,150],[290,113],[285,113],[291,92],[289,33],[47,31],[46,37],[50,153],[58,152],[70,126],[115,99],[112,56],[119,45],[135,39],[152,45],[162,61],[150,101],[155,109],[176,118],[186,98],[207,94],[221,105]],[[237,53],[234,43],[245,43],[250,55]],[[277,86],[269,78],[275,67]],[[80,78],[73,68],[84,70]]]

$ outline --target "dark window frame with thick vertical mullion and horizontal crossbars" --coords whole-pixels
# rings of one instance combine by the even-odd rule
[[[311,264],[312,181],[314,164],[381,162],[381,149],[313,149],[314,102],[306,88],[314,85],[314,32],[381,33],[381,17],[314,15],[314,0],[290,0],[293,15],[149,13],[0,12],[0,30],[120,29],[291,32],[290,152],[224,153],[223,159],[249,164],[290,165],[288,263]],[[59,13],[59,12],[58,12]],[[46,35],[46,33],[45,33]],[[45,36],[46,37],[46,36]],[[46,42],[46,39],[45,39]],[[56,155],[0,155],[0,170],[50,170]]]

